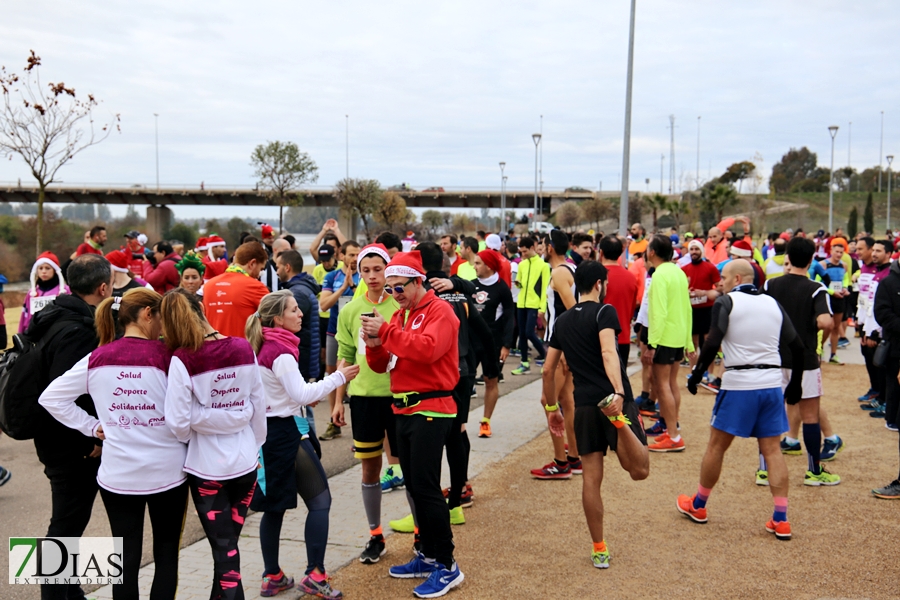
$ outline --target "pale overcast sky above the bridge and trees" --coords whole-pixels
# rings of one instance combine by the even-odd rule
[[[30,49],[64,81],[120,113],[122,133],[78,156],[66,182],[153,184],[159,113],[164,185],[252,185],[256,144],[290,140],[319,184],[352,177],[417,187],[534,185],[543,115],[545,188],[619,189],[627,0],[453,2],[49,2],[5,0],[0,64]],[[900,3],[639,0],[630,189],[659,190],[669,115],[682,185],[790,147],[835,166],[900,155]],[[0,182],[29,180],[0,161]],[[201,209],[178,209],[200,216]]]

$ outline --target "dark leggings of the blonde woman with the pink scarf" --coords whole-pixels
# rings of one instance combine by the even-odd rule
[[[328,519],[331,511],[331,490],[328,477],[316,455],[312,442],[304,439],[297,450],[294,466],[297,477],[297,492],[303,498],[309,513],[306,515],[306,574],[313,569],[325,573],[325,548],[328,544]],[[281,541],[281,524],[284,511],[267,511],[259,522],[259,543],[262,547],[263,575],[277,575],[281,572],[278,564],[278,544]]]

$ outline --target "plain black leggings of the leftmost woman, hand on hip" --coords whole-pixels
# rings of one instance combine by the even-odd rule
[[[113,585],[115,600],[138,600],[138,572],[144,542],[144,508],[150,512],[153,530],[153,586],[150,600],[168,600],[178,589],[178,549],[187,511],[187,482],[158,494],[130,496],[100,488],[109,526],[122,538],[123,581]]]

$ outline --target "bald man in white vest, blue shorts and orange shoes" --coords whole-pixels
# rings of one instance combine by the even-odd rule
[[[781,305],[771,296],[757,292],[753,274],[753,267],[743,258],[731,261],[722,272],[724,294],[713,304],[709,337],[688,379],[688,391],[697,393],[697,384],[720,346],[725,354],[725,374],[709,423],[700,485],[693,496],[679,496],[676,506],[695,523],[706,523],[706,502],[722,472],[725,451],[735,436],[755,437],[760,453],[768,461],[768,483],[775,504],[765,527],[776,538],[789,540],[788,471],[780,442],[781,434],[788,429],[784,401],[800,400],[803,371],[795,369],[782,392],[779,348],[781,344],[789,346],[795,364],[799,364],[804,345]]]

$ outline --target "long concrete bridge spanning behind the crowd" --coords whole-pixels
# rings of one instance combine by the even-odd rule
[[[500,190],[466,188],[429,188],[430,191],[395,190],[410,208],[500,208]],[[436,190],[436,191],[435,191]],[[303,194],[304,206],[338,206],[333,188],[298,190]],[[539,213],[549,214],[566,200],[587,200],[598,194],[590,191],[545,189],[539,194]],[[604,197],[618,197],[618,192],[603,192]],[[37,202],[38,188],[20,185],[0,185],[0,202]],[[53,185],[46,190],[45,202],[57,204],[145,204],[147,205],[147,235],[160,239],[172,223],[171,206],[278,206],[275,197],[252,188],[229,189],[148,189],[133,187],[86,185]],[[507,190],[506,209],[533,209],[534,190]],[[356,223],[342,213],[341,230],[356,234]]]

